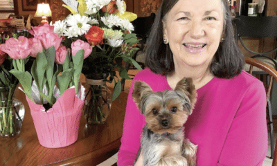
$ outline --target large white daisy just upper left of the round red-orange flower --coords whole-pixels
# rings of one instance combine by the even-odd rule
[[[66,18],[66,23],[68,24],[68,26],[74,28],[78,35],[83,35],[84,33],[87,33],[89,28],[91,28],[91,25],[88,24],[89,21],[91,21],[91,18],[87,16],[81,16],[79,14],[71,15]]]

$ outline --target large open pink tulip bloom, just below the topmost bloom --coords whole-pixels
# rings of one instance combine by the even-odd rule
[[[54,46],[55,50],[57,50],[62,42],[62,37],[59,37],[56,33],[44,33],[43,35],[37,36],[37,39],[40,40],[45,50],[51,46]]]

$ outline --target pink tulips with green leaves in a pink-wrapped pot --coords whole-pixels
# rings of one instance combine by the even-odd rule
[[[12,58],[10,73],[26,93],[39,143],[44,147],[71,145],[78,137],[84,104],[84,88],[79,84],[83,59],[92,48],[77,40],[68,50],[61,45],[62,37],[54,33],[54,26],[32,28],[30,39],[8,39],[0,49]],[[29,57],[33,64],[26,71]]]

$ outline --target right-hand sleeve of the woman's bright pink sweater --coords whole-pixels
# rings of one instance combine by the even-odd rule
[[[235,114],[218,166],[262,165],[267,154],[266,104],[262,82],[253,82]]]

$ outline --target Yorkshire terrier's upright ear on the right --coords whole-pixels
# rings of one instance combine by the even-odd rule
[[[197,100],[197,93],[195,85],[193,84],[193,79],[190,77],[184,77],[177,83],[174,91],[176,91],[178,94],[182,94],[184,98],[186,98],[186,96],[188,97],[190,104],[185,104],[184,107],[186,107],[191,113]]]

